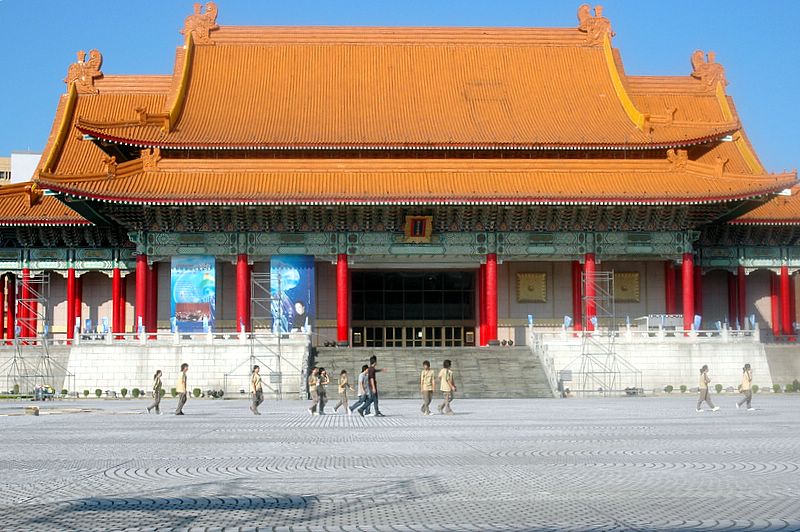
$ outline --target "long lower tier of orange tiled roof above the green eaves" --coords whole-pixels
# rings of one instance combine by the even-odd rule
[[[40,186],[149,204],[690,204],[756,197],[796,174],[715,175],[688,161],[586,159],[162,159],[114,177],[42,175]]]

